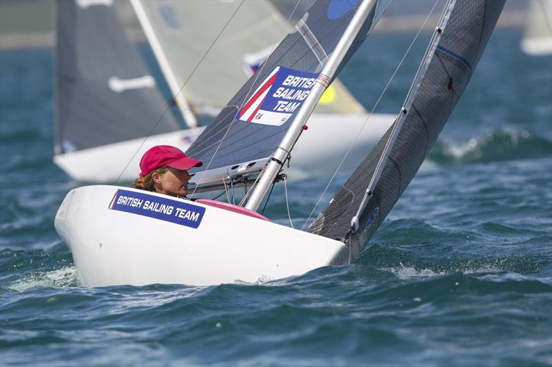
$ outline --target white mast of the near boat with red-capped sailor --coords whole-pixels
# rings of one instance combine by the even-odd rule
[[[282,142],[280,142],[279,147],[276,149],[272,158],[270,158],[268,164],[266,165],[264,173],[259,178],[259,182],[247,202],[246,209],[254,211],[258,209],[260,203],[266,195],[266,192],[268,191],[268,188],[276,178],[279,170],[288,158],[291,149],[293,149],[293,145],[295,145],[297,139],[301,135],[306,120],[308,120],[313,113],[318,100],[322,94],[324,94],[324,91],[328,87],[333,76],[335,76],[337,67],[339,67],[339,64],[344,59],[349,48],[351,48],[355,37],[366,20],[366,17],[368,17],[368,14],[370,14],[373,10],[376,3],[377,0],[363,0],[360,4],[357,12],[353,16],[353,19],[351,19],[351,23],[349,23],[342,38],[339,39],[339,42],[335,46],[335,50],[331,54],[330,59],[326,65],[324,65],[322,72],[320,72],[317,77],[311,93],[308,94],[308,97],[299,109],[297,116],[295,116],[295,119],[293,120],[293,123],[291,123],[290,128],[282,139]]]

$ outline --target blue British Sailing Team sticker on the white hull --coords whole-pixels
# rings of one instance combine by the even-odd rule
[[[188,202],[127,190],[117,190],[110,202],[109,209],[126,211],[192,228],[199,227],[205,213],[204,207],[198,207]]]

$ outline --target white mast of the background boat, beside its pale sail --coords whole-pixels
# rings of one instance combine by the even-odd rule
[[[146,36],[148,37],[148,41],[150,42],[155,57],[157,58],[159,67],[161,67],[161,70],[166,78],[168,86],[170,87],[170,92],[172,92],[172,95],[175,98],[175,103],[177,104],[178,109],[180,110],[182,116],[184,116],[186,125],[188,125],[188,127],[197,127],[197,118],[195,118],[195,115],[190,109],[184,93],[181,92],[182,86],[177,81],[174,70],[170,67],[170,63],[168,62],[163,48],[161,48],[161,43],[159,43],[159,39],[157,39],[157,35],[153,30],[150,19],[148,19],[148,16],[144,11],[144,6],[142,6],[140,0],[130,0],[130,3],[136,12],[136,16],[138,17],[142,28],[144,28],[144,33],[146,33]]]

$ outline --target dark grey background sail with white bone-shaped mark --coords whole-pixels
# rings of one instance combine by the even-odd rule
[[[57,154],[179,129],[112,1],[58,1],[56,56]]]

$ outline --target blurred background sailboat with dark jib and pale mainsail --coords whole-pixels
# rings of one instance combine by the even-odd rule
[[[154,145],[186,150],[202,131],[198,117],[216,116],[290,27],[270,1],[213,6],[205,1],[130,0],[130,4],[178,108],[165,111],[167,103],[161,100],[155,79],[136,50],[126,41],[111,0],[60,1],[57,75],[63,83],[58,84],[54,160],[70,176],[84,182],[135,179],[139,158]],[[206,16],[210,22],[199,20]],[[213,43],[220,31],[213,24],[224,24],[228,19],[232,21]],[[104,25],[100,34],[99,24]],[[79,67],[85,56],[97,67]],[[137,67],[131,70],[127,65]],[[75,75],[68,75],[68,70]],[[348,147],[353,148],[350,159],[344,160],[341,169],[352,171],[355,156],[364,156],[395,118],[391,114],[369,116],[338,80],[321,101],[302,147],[295,151],[295,178],[330,176]],[[115,111],[117,106],[121,111]],[[183,117],[188,129],[179,127],[172,112]],[[370,129],[362,129],[358,137],[347,134],[359,131],[368,116]],[[326,149],[312,154],[320,144]],[[107,167],[106,161],[110,162]]]

